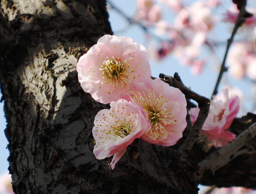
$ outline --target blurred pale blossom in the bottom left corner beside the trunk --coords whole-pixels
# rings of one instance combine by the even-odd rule
[[[9,172],[5,172],[0,176],[0,193],[14,194],[12,187],[12,176]]]

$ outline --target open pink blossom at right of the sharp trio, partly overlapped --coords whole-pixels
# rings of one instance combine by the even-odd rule
[[[122,96],[148,113],[151,128],[141,139],[149,143],[171,146],[182,137],[187,126],[186,99],[177,88],[171,88],[160,79],[132,84]]]

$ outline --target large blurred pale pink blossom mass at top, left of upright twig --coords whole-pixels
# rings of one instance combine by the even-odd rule
[[[220,1],[196,1],[188,6],[182,0],[160,0],[159,4],[153,0],[137,0],[137,5],[138,11],[134,16],[135,20],[142,23],[146,21],[146,25],[155,27],[156,34],[164,37],[160,48],[155,43],[150,44],[149,56],[160,60],[172,53],[180,60],[181,64],[191,66],[193,73],[200,73],[207,60],[198,56],[201,53],[201,46],[206,42],[209,32],[216,24],[217,17],[212,14],[212,9],[219,6]],[[146,12],[149,7],[158,9],[151,8],[150,12]],[[173,11],[174,24],[163,19],[162,7],[169,7]],[[150,15],[148,14],[148,16],[146,13],[150,13],[157,19],[150,20]]]

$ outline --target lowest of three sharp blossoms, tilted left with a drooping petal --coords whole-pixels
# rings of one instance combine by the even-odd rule
[[[110,110],[103,109],[95,116],[92,129],[95,139],[93,153],[99,160],[110,157],[112,169],[134,139],[150,129],[148,115],[142,107],[120,99],[110,103]]]

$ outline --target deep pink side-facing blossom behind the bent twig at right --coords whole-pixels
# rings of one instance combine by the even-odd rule
[[[235,139],[235,134],[227,131],[239,110],[239,97],[229,96],[228,89],[223,90],[222,99],[215,98],[211,101],[210,111],[201,132],[212,140],[213,145],[221,147]],[[191,122],[194,124],[199,113],[199,108],[189,111]]]

